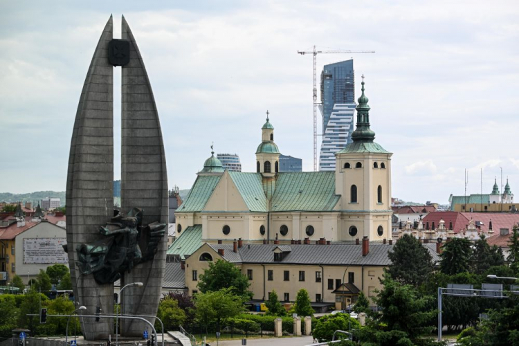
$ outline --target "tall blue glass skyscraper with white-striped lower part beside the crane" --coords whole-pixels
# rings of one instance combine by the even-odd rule
[[[352,141],[355,84],[353,60],[324,66],[321,73],[322,143],[319,170],[335,170],[335,153]]]

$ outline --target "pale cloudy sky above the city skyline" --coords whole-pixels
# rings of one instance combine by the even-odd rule
[[[151,4],[150,4],[151,3]],[[393,197],[446,203],[519,194],[518,1],[0,1],[0,192],[64,190],[75,110],[109,15],[124,14],[152,82],[170,186],[203,161],[239,154],[255,168],[265,111],[283,154],[312,170],[312,59],[354,58],[376,142],[393,152]],[[120,122],[120,68],[114,75]],[[320,127],[319,127],[320,128]],[[120,130],[115,131],[116,147]],[[116,150],[116,167],[120,150]],[[116,169],[116,179],[120,170]]]

